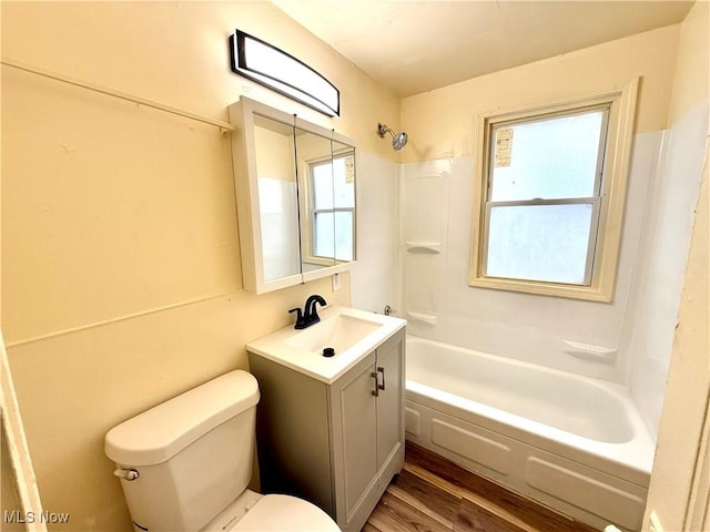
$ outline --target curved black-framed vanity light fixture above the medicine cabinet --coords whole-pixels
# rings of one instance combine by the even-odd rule
[[[333,83],[293,55],[241,30],[230,35],[232,72],[248,78],[316,111],[341,114],[341,93]]]

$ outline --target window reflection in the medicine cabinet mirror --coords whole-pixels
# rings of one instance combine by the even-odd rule
[[[313,162],[310,167],[313,259],[353,260],[355,168],[351,153]]]

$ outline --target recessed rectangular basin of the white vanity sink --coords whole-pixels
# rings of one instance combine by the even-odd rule
[[[324,348],[331,347],[337,356],[382,326],[383,324],[369,319],[336,314],[296,332],[286,344],[318,355],[323,354]]]

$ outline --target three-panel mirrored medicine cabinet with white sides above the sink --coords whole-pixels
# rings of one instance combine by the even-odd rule
[[[356,258],[356,144],[247,98],[229,106],[244,287],[277,290]]]

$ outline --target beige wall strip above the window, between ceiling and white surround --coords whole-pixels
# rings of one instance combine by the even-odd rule
[[[674,24],[406,98],[402,102],[402,129],[409,134],[405,162],[470,155],[474,116],[479,111],[587,93],[639,75],[635,132],[662,130],[678,32]]]

